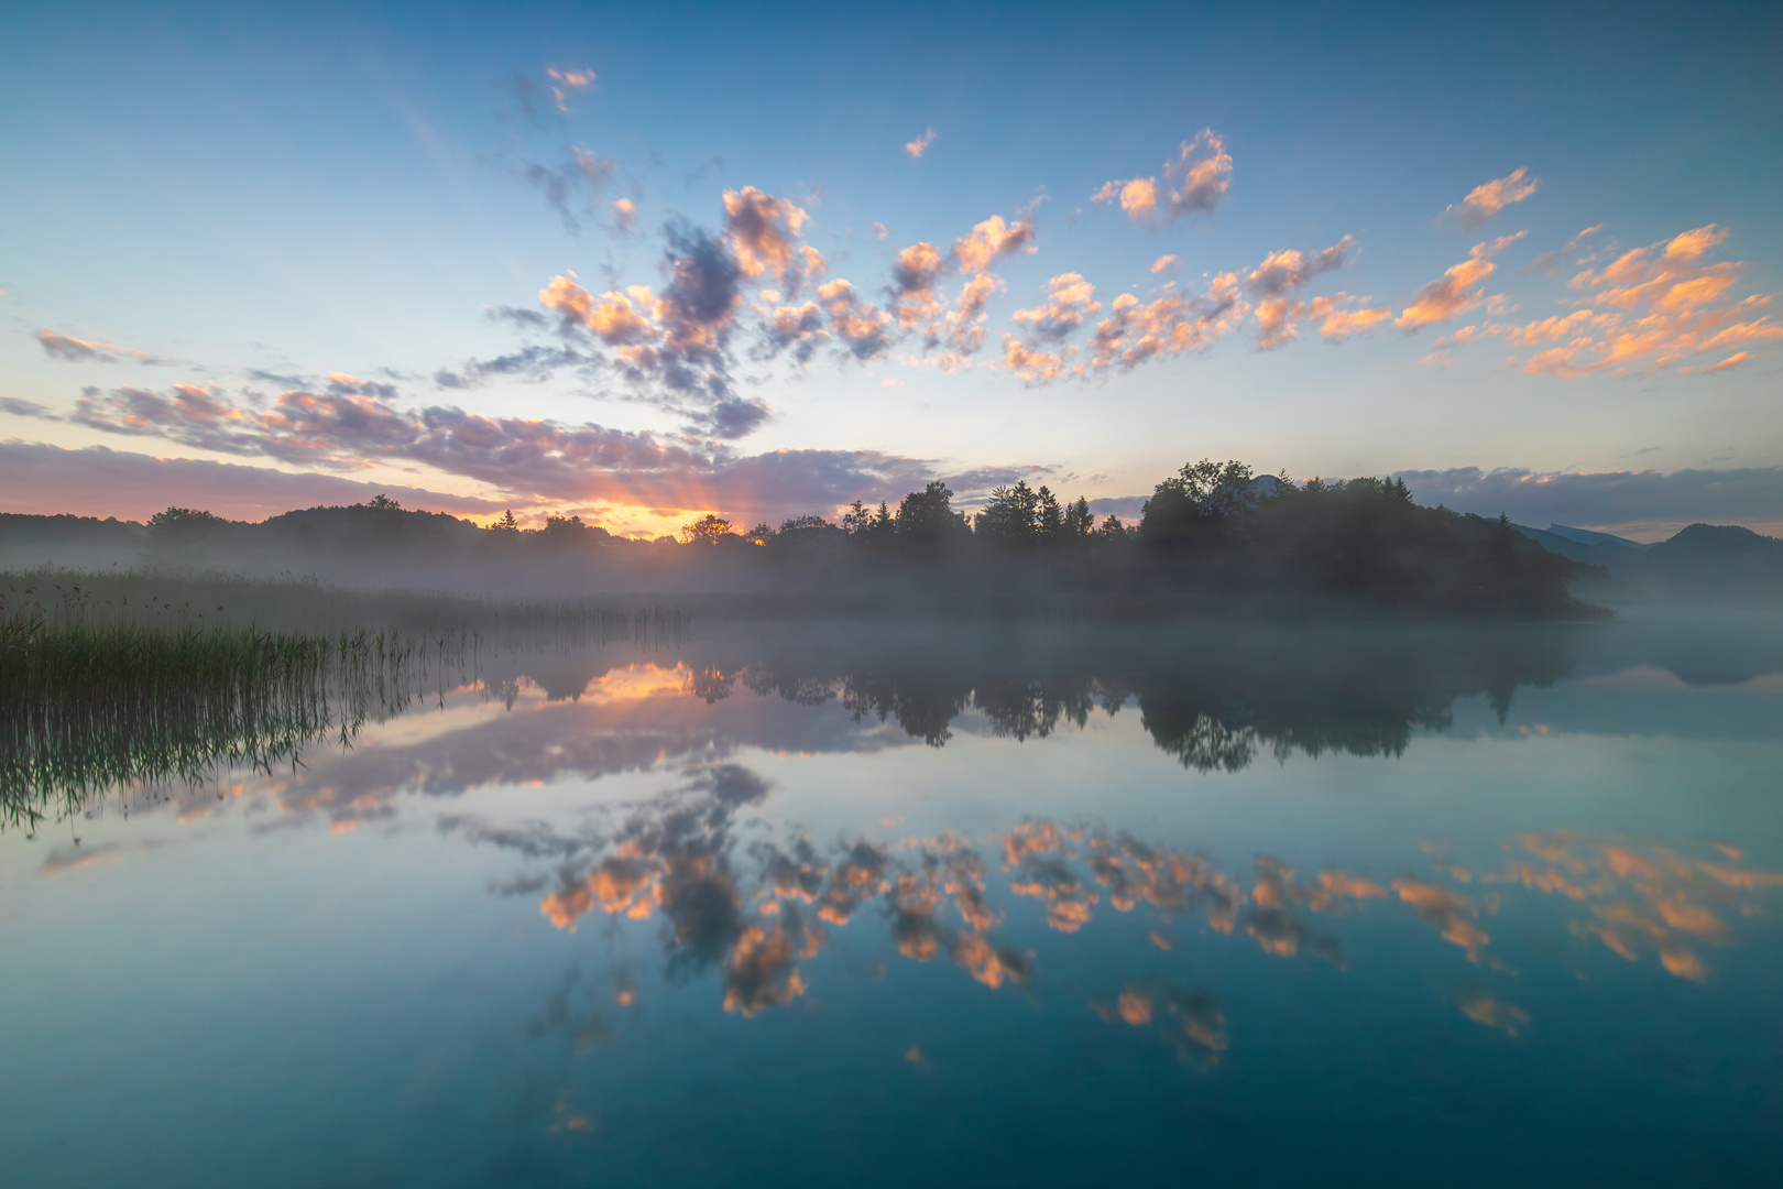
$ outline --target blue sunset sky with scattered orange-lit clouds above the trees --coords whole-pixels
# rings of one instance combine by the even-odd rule
[[[0,512],[1783,533],[1783,11],[9,5]]]

